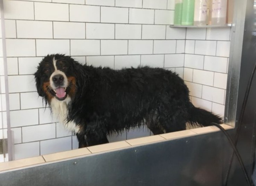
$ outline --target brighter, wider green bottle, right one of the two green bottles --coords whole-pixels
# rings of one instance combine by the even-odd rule
[[[181,25],[194,24],[195,0],[183,0]]]

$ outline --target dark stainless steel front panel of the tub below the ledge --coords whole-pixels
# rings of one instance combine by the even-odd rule
[[[217,186],[226,153],[227,140],[215,132],[9,171],[0,185]]]

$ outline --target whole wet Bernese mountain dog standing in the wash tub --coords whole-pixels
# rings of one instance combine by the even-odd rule
[[[74,132],[79,148],[108,143],[107,135],[146,124],[153,134],[209,126],[221,118],[196,108],[174,72],[138,67],[113,70],[82,65],[70,56],[45,56],[35,75],[39,96]]]

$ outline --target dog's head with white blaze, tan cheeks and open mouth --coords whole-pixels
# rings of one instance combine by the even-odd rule
[[[34,74],[37,93],[44,97],[46,102],[51,102],[53,98],[58,101],[72,98],[76,92],[76,63],[70,56],[45,56]]]

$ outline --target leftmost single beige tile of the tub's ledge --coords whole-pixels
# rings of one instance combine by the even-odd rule
[[[45,163],[42,156],[0,163],[0,171]]]

